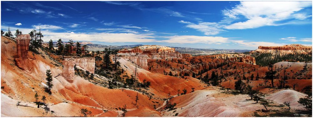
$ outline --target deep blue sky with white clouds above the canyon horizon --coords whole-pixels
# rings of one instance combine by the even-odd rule
[[[312,45],[312,2],[1,1],[1,30],[8,26],[40,26],[44,41],[255,50]]]

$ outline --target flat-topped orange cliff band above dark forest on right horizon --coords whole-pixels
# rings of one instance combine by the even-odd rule
[[[304,46],[300,44],[290,44],[285,46],[259,46],[255,51],[250,53],[261,52],[261,53],[279,53],[284,54],[312,54],[312,46]]]

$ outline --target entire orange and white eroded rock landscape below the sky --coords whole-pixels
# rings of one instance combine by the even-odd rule
[[[58,55],[58,46],[49,50],[45,44],[29,50],[29,38],[1,37],[1,116],[83,116],[82,109],[97,117],[290,116],[306,111],[298,101],[311,91],[307,86],[312,84],[312,61],[273,63],[277,74],[272,87],[267,76],[271,68],[257,65],[252,55],[312,55],[308,46],[260,46],[249,53],[192,56],[172,47],[145,45],[101,52],[87,48],[85,57]],[[50,92],[47,70],[53,84]],[[257,92],[241,93],[237,81]],[[46,100],[36,102],[35,94]],[[252,100],[255,96],[259,102]]]

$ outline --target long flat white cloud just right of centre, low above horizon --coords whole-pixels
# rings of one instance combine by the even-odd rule
[[[171,36],[166,37],[169,40],[162,40],[167,43],[206,43],[206,44],[220,44],[227,43],[228,38],[225,37],[208,37],[208,36]]]

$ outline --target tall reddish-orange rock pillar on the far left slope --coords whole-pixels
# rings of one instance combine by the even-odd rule
[[[28,49],[30,42],[29,34],[18,35],[16,38],[16,49],[17,49],[17,57],[15,58],[16,64],[19,68],[27,71],[28,73],[32,73],[33,61],[28,58]]]

